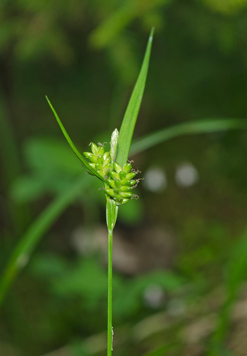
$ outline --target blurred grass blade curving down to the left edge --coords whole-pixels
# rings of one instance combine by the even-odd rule
[[[81,193],[82,189],[90,184],[89,176],[80,177],[71,188],[56,197],[30,225],[26,233],[17,244],[12,256],[7,263],[0,279],[0,305],[7,290],[14,281],[17,273],[25,267],[31,253],[37,246],[42,236],[52,226],[59,215],[72,203]]]

